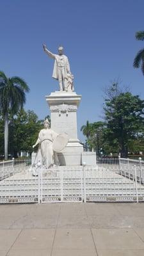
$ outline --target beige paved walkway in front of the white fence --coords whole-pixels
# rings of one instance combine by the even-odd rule
[[[143,256],[143,203],[0,205],[1,256]]]

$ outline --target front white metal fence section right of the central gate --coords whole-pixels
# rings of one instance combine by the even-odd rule
[[[107,168],[84,167],[84,202],[144,201],[144,186],[137,180],[136,166],[130,175],[127,170],[111,172]]]

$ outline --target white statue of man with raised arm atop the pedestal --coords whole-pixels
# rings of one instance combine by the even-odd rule
[[[44,51],[49,55],[49,57],[55,60],[52,77],[59,81],[60,91],[66,91],[66,92],[74,91],[74,87],[73,87],[74,76],[70,72],[70,65],[68,62],[68,58],[63,54],[63,47],[62,46],[58,47],[58,54],[53,54],[52,52],[50,52],[46,48],[45,44],[43,45],[43,48],[44,48]]]

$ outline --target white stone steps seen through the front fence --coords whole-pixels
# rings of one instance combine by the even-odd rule
[[[63,196],[68,200],[81,200],[81,180],[83,180],[83,168],[69,168],[63,166]],[[61,200],[61,167],[57,172],[44,172],[42,193],[45,201],[58,202]],[[103,200],[102,198],[125,197],[124,200],[136,198],[136,184],[133,180],[122,175],[97,168],[89,168],[85,172],[86,198],[88,200]],[[144,200],[144,186],[137,184],[138,195]],[[84,190],[83,190],[84,193]],[[78,198],[78,199],[77,199]],[[119,199],[120,200],[120,199]],[[134,199],[136,200],[136,199]],[[37,202],[38,201],[38,177],[33,177],[30,172],[15,173],[0,182],[0,203],[11,202]]]

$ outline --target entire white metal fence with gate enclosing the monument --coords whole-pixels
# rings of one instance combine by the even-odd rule
[[[144,201],[144,161],[97,158],[96,166],[29,171],[31,159],[0,163],[0,203]]]

